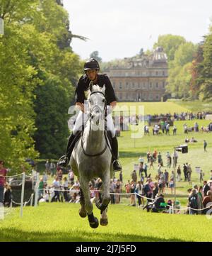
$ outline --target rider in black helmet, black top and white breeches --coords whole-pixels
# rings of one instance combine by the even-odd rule
[[[107,101],[107,105],[114,108],[117,104],[117,99],[114,94],[114,89],[112,88],[112,84],[110,82],[110,79],[107,77],[106,74],[98,74],[100,70],[100,65],[98,64],[98,61],[94,58],[91,58],[84,64],[84,71],[86,74],[84,74],[78,81],[78,84],[76,86],[75,91],[75,99],[76,99],[76,106],[80,108],[80,112],[78,113],[78,116],[76,118],[75,125],[73,127],[73,131],[71,133],[71,136],[69,138],[69,142],[66,148],[66,155],[63,155],[59,161],[58,165],[61,167],[66,167],[69,164],[69,160],[71,157],[71,153],[74,148],[73,140],[76,138],[76,133],[78,130],[82,127],[82,120],[86,118],[86,115],[84,114],[84,101],[88,98],[88,91],[89,91],[89,84],[92,81],[93,84],[98,84],[98,86],[103,87],[105,85],[105,99]],[[122,166],[117,161],[118,159],[118,141],[114,130],[114,124],[112,121],[112,114],[110,113],[107,115],[107,128],[112,133],[112,161],[113,161],[113,169],[114,171],[121,171]]]

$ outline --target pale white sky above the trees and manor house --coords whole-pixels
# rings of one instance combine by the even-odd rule
[[[211,0],[64,0],[73,34],[71,47],[82,59],[98,51],[103,61],[151,50],[158,35],[182,35],[199,43],[208,33]]]

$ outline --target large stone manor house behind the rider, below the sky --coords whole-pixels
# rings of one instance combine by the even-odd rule
[[[125,60],[125,67],[112,67],[107,73],[118,101],[163,101],[168,75],[163,48]]]

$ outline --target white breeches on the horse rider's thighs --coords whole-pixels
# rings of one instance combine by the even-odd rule
[[[73,126],[73,135],[76,135],[76,132],[78,130],[82,130],[82,126],[83,124],[86,123],[86,121],[88,120],[88,115],[86,115],[85,113],[83,113],[83,111],[79,111],[78,116],[76,118],[76,122]],[[114,136],[116,135],[115,129],[114,129],[114,124],[112,121],[112,114],[108,114],[107,115],[107,130],[110,130],[112,133],[112,138],[114,138]]]

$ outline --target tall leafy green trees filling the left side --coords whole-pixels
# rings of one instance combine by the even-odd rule
[[[19,172],[26,158],[38,157],[35,145],[45,158],[64,152],[82,64],[69,46],[68,14],[56,1],[0,0],[0,16],[0,155]]]

